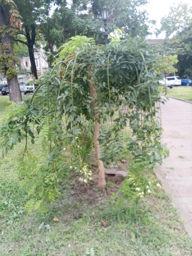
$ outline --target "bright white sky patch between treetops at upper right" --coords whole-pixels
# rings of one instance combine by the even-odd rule
[[[147,6],[147,11],[149,13],[149,18],[152,20],[156,20],[157,28],[160,28],[161,18],[167,15],[170,11],[170,6],[175,3],[177,6],[180,2],[187,3],[189,6],[192,5],[191,0],[149,0],[149,4]],[[160,34],[158,38],[164,38],[164,33]],[[151,38],[156,38],[155,35],[151,36]]]

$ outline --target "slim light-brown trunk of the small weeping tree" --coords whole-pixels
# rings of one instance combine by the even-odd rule
[[[105,171],[104,171],[104,164],[103,161],[100,160],[100,145],[99,145],[99,130],[100,130],[100,124],[98,122],[99,118],[99,109],[97,108],[97,101],[95,100],[95,97],[97,96],[96,89],[94,87],[94,78],[92,77],[92,71],[89,71],[89,74],[91,76],[90,82],[89,82],[89,88],[91,91],[91,96],[93,98],[93,107],[94,107],[94,116],[95,116],[95,132],[94,132],[94,148],[97,155],[97,162],[98,162],[98,170],[99,170],[99,178],[98,178],[98,188],[105,189],[106,187],[106,181],[105,181]]]

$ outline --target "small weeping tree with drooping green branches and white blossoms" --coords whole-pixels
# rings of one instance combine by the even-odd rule
[[[30,187],[29,212],[55,200],[58,184],[70,170],[80,175],[80,182],[92,180],[93,140],[98,187],[104,189],[104,164],[121,152],[122,130],[128,123],[134,158],[121,191],[131,202],[150,193],[146,170],[151,172],[165,156],[155,108],[161,101],[155,66],[152,47],[138,38],[98,47],[92,38],[76,36],[60,48],[53,68],[39,77],[32,98],[15,105],[0,130],[6,150],[26,142],[19,172]],[[37,136],[43,147],[41,163],[28,151]]]

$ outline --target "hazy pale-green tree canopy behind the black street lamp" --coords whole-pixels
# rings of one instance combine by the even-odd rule
[[[145,9],[147,3],[148,0],[93,0],[84,3],[74,0],[71,9],[75,10],[76,17],[86,20],[85,24],[83,21],[76,20],[74,27],[82,30],[82,33],[84,33],[82,35],[91,36],[91,34],[88,34],[91,32],[96,41],[98,38],[102,39],[101,9],[103,6],[107,6],[109,8],[109,33],[116,29],[122,29],[124,36],[147,36],[149,34],[149,24],[154,23],[153,20],[148,18],[148,12]],[[95,31],[98,25],[100,25],[100,29]],[[98,38],[97,33],[99,33]]]

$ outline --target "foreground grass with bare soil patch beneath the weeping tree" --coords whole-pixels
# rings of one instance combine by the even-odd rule
[[[8,96],[0,96],[0,121],[8,112],[6,100]],[[24,209],[28,188],[18,178],[17,154],[22,147],[20,143],[4,158],[0,156],[0,255],[192,255],[191,238],[163,189],[154,188],[153,195],[134,209],[118,209],[110,195],[122,180],[114,176],[106,177],[108,189],[100,191],[96,181],[84,187],[71,173],[60,184],[61,195],[55,204],[49,204],[44,215],[33,212],[28,216]],[[30,148],[40,159],[40,141]]]

